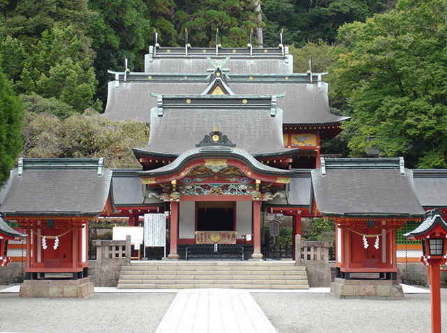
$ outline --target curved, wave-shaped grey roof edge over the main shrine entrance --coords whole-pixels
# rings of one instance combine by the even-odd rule
[[[184,153],[180,154],[173,163],[168,165],[164,165],[161,168],[154,170],[146,170],[140,172],[140,176],[149,176],[149,175],[169,175],[170,173],[177,172],[181,170],[184,163],[187,163],[189,160],[194,158],[215,158],[215,156],[219,156],[219,158],[236,158],[240,160],[244,160],[249,167],[253,168],[257,172],[261,172],[264,174],[273,174],[273,175],[284,175],[291,177],[294,170],[284,170],[278,168],[272,168],[269,165],[265,165],[256,160],[253,156],[251,156],[247,151],[242,149],[238,149],[237,147],[224,147],[224,146],[210,146],[210,147],[198,147],[189,149],[188,151],[184,151]]]

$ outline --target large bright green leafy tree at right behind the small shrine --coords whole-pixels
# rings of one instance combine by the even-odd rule
[[[402,0],[339,30],[334,96],[353,115],[351,156],[379,149],[409,168],[447,168],[447,3]]]

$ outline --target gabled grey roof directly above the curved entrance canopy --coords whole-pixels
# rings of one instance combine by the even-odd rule
[[[252,156],[290,156],[284,148],[282,110],[274,96],[163,96],[151,110],[149,145],[138,156],[177,157],[217,126],[237,148]],[[160,102],[160,98],[159,98]]]

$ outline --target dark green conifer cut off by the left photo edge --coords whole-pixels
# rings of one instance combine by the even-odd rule
[[[22,149],[22,103],[0,68],[0,184],[9,178]]]

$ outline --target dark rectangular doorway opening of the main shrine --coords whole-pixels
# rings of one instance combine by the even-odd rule
[[[197,231],[235,231],[233,201],[198,202]]]

